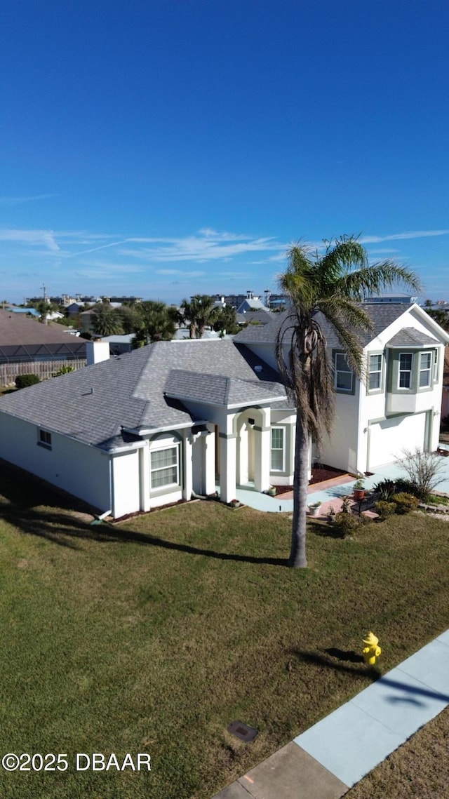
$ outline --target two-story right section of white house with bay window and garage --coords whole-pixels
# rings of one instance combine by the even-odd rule
[[[394,463],[404,448],[435,451],[449,335],[418,305],[364,304],[374,325],[364,333],[366,376],[356,380],[333,328],[320,318],[334,366],[336,423],[320,460],[354,474]],[[234,341],[246,344],[272,367],[280,324],[250,325]]]

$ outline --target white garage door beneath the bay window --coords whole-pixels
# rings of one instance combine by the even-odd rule
[[[394,416],[370,427],[368,471],[403,457],[403,449],[424,448],[426,414]]]

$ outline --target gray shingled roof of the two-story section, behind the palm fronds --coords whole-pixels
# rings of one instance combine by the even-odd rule
[[[403,313],[407,312],[409,308],[411,308],[410,305],[404,305],[403,303],[364,303],[364,311],[366,311],[368,316],[370,316],[372,319],[374,328],[370,332],[360,332],[360,340],[362,344],[364,346],[369,344],[369,342],[372,341],[375,336],[378,336],[379,333],[388,327],[388,325],[398,319],[398,317]],[[288,310],[284,311],[283,313],[276,314],[276,319],[269,324],[251,324],[248,326],[248,328],[245,328],[240,333],[237,333],[237,335],[234,336],[234,341],[237,344],[276,344],[280,326],[285,323],[285,327],[288,328],[288,317],[290,316],[290,313],[290,310]],[[332,325],[329,324],[326,319],[324,319],[324,316],[321,313],[316,314],[316,319],[320,322],[321,328],[323,329],[324,335],[328,341],[328,346],[340,347],[340,340],[338,336],[336,336]]]

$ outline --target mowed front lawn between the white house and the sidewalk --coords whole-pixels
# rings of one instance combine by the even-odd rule
[[[439,519],[352,540],[312,523],[309,568],[289,570],[282,515],[189,503],[89,526],[5,464],[0,481],[0,749],[70,763],[0,772],[8,799],[211,797],[448,626]],[[368,630],[375,669],[352,656]],[[77,752],[152,768],[76,772]]]

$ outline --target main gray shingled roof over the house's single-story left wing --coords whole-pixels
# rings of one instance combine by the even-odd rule
[[[254,371],[256,365],[261,372]],[[164,396],[173,369],[260,384],[262,396],[277,379],[259,357],[232,341],[160,341],[3,396],[0,411],[95,447],[123,447],[122,427],[157,430],[197,420]]]

